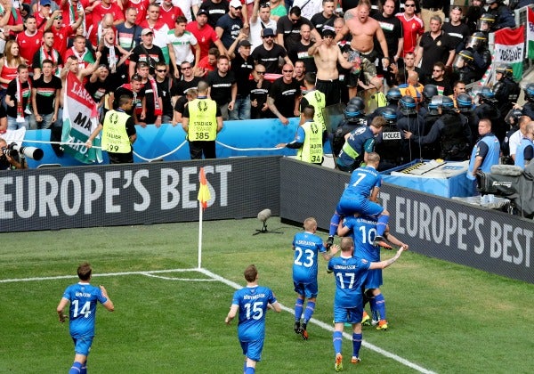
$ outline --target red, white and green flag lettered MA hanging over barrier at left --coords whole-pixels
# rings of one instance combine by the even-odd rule
[[[85,142],[96,126],[98,126],[96,103],[77,76],[69,71],[67,83],[63,88],[61,142],[70,144],[61,145],[63,151],[85,164],[102,162],[100,135],[94,139],[92,148],[85,147]]]

